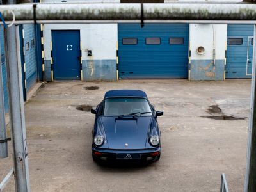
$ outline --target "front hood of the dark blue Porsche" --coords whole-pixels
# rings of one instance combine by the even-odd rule
[[[100,117],[110,149],[143,149],[148,140],[151,116],[138,118]],[[126,145],[128,146],[126,146]]]

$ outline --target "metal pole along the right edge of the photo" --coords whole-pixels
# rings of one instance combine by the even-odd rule
[[[244,180],[244,192],[256,191],[256,25],[254,25],[253,65],[250,118],[248,125],[248,143],[246,156],[246,173]]]

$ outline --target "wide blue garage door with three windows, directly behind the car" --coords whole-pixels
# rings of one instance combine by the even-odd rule
[[[188,24],[118,24],[120,79],[187,78]]]

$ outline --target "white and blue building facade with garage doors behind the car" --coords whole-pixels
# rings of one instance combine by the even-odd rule
[[[24,100],[36,81],[250,78],[253,31],[244,24],[20,25]],[[8,111],[3,27],[0,45]]]

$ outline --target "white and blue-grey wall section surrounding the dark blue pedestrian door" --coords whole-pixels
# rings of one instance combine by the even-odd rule
[[[45,79],[51,78],[52,30],[80,30],[83,81],[116,81],[117,24],[45,24]],[[87,56],[88,49],[92,56]],[[54,65],[54,64],[53,64]]]

